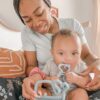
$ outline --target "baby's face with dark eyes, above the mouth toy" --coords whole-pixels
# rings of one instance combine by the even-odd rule
[[[52,48],[52,54],[55,63],[70,64],[71,69],[80,62],[81,41],[77,35],[75,36],[58,36]]]

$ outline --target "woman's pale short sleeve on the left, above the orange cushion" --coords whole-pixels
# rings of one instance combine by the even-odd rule
[[[30,37],[30,32],[27,27],[24,27],[21,32],[22,49],[25,51],[36,51],[34,41]]]

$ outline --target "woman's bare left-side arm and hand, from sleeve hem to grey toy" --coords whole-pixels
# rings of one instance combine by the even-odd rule
[[[37,67],[38,65],[36,53],[34,51],[24,51],[24,54],[25,54],[25,58],[27,62],[26,74],[27,76],[29,76],[32,69]],[[38,72],[34,73],[33,75],[30,75],[29,77],[24,78],[23,84],[22,84],[23,97],[29,100],[31,97],[32,98],[35,97],[36,93],[34,93],[34,84],[38,80],[42,80],[42,77]]]

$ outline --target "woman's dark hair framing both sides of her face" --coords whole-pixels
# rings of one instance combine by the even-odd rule
[[[20,13],[19,13],[19,4],[20,4],[20,1],[21,0],[13,0],[13,6],[14,6],[14,9],[15,9],[15,12],[17,13],[17,15],[19,16],[19,18],[21,19],[21,21],[24,23],[22,17],[20,16]],[[45,2],[45,4],[51,8],[51,1],[50,0],[43,0]]]

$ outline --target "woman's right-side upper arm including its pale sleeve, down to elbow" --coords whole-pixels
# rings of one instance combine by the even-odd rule
[[[91,50],[87,44],[86,38],[84,36],[85,31],[84,31],[82,25],[76,19],[73,20],[73,23],[74,23],[74,30],[79,33],[79,37],[83,44],[81,57],[87,63],[87,65],[90,66],[91,64],[93,64],[93,62],[95,62],[98,59],[98,57],[91,52]],[[100,61],[100,59],[99,59],[99,61]],[[100,62],[99,62],[99,64],[100,64]],[[96,66],[97,65],[98,64],[96,63]]]

